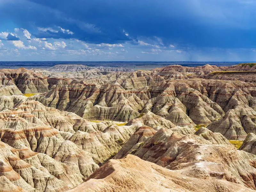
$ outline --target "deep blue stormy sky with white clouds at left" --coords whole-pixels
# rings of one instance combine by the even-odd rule
[[[256,61],[256,0],[0,0],[0,61]]]

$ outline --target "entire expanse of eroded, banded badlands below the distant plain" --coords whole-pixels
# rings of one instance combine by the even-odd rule
[[[0,192],[256,190],[256,64],[0,75]]]

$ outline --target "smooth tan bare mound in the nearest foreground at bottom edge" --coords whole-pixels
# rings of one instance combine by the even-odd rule
[[[243,185],[225,180],[204,180],[182,175],[159,165],[127,155],[124,159],[110,160],[81,185],[68,192],[120,191],[186,191],[234,192],[253,191]]]

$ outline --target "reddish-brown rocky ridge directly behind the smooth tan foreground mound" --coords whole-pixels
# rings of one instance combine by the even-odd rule
[[[200,135],[204,131],[208,140],[202,133]],[[146,133],[148,136],[143,137]],[[200,136],[182,135],[166,128],[157,132],[138,130],[114,159],[132,154],[189,177],[226,180],[256,189],[253,179],[256,176],[256,156],[237,150],[219,134],[213,135],[207,130],[200,130],[197,134]]]

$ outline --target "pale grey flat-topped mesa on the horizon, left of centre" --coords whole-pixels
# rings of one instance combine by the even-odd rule
[[[77,71],[134,71],[133,69],[123,68],[123,67],[90,67],[86,65],[55,65],[53,67],[47,68],[48,71],[59,71],[59,72],[77,72]]]

